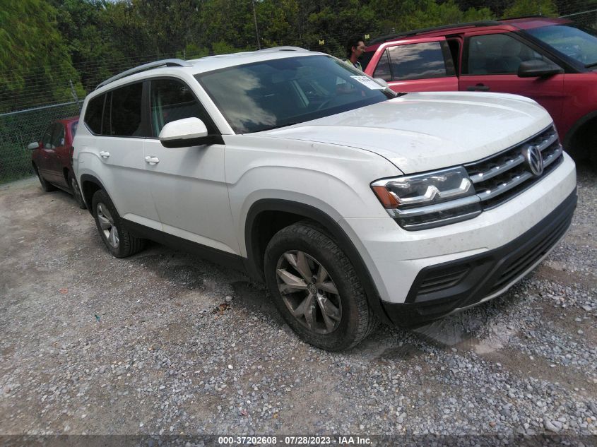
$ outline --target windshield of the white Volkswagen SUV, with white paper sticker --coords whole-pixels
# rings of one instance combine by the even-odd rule
[[[273,59],[195,78],[236,133],[302,123],[395,96],[331,56]]]

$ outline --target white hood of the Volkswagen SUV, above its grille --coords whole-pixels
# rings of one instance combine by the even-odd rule
[[[551,122],[543,107],[517,95],[408,93],[259,134],[369,150],[410,174],[480,160]]]

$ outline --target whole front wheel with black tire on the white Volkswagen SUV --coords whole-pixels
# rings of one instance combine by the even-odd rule
[[[276,308],[288,326],[310,345],[328,351],[348,350],[377,327],[377,317],[367,303],[355,268],[317,225],[302,221],[280,230],[269,242],[264,261],[266,282]],[[322,278],[329,281],[317,278],[320,266],[327,273]],[[290,285],[294,280],[289,274],[305,282],[307,289]],[[309,274],[310,282],[305,280]],[[299,315],[293,315],[290,309]],[[303,309],[311,311],[300,315]]]

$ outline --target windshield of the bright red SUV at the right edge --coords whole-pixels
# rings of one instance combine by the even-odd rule
[[[597,65],[597,37],[589,30],[571,25],[551,25],[526,32],[586,67]]]

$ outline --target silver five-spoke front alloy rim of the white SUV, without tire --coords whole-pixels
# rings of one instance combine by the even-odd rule
[[[338,288],[324,266],[304,251],[286,251],[276,267],[278,290],[299,323],[314,333],[329,334],[342,319]]]

